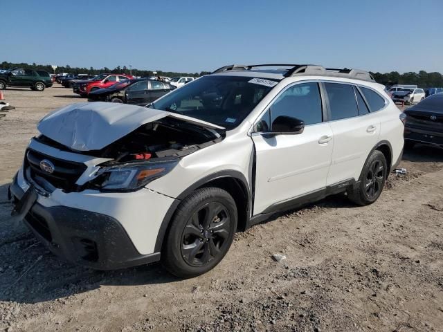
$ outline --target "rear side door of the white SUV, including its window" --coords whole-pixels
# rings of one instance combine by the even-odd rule
[[[334,133],[334,151],[327,185],[352,178],[358,180],[366,158],[379,140],[379,116],[370,112],[358,87],[336,82],[323,84],[328,100],[329,124]],[[371,89],[366,90],[369,91],[368,95],[375,93]]]

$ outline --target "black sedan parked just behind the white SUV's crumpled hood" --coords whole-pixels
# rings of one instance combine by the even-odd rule
[[[130,80],[118,82],[107,89],[91,91],[88,100],[145,106],[174,89],[177,87],[157,80]]]

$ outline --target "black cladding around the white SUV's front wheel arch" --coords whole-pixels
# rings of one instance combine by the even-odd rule
[[[163,218],[159,234],[157,234],[154,252],[161,251],[163,240],[165,239],[166,234],[168,234],[170,223],[181,201],[190,193],[204,187],[219,187],[233,196],[238,212],[237,230],[246,230],[251,206],[251,191],[249,190],[248,182],[244,175],[237,171],[226,170],[223,172],[217,172],[202,178],[177,196],[177,199]]]

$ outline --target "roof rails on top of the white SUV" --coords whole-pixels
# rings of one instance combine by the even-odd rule
[[[368,82],[375,82],[374,77],[370,75],[368,71],[362,71],[360,69],[350,69],[350,68],[325,68],[323,66],[318,66],[316,64],[231,64],[230,66],[224,66],[218,68],[215,73],[221,73],[224,71],[251,71],[255,67],[270,67],[270,66],[285,66],[291,67],[284,77],[291,77],[296,75],[320,75],[320,76],[330,76],[330,77],[345,77],[352,78],[354,80],[363,80]]]

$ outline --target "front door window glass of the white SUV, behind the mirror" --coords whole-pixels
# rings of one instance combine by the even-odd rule
[[[285,90],[271,105],[271,123],[279,116],[297,118],[305,122],[305,125],[322,122],[318,84],[296,84]]]

